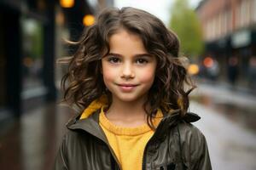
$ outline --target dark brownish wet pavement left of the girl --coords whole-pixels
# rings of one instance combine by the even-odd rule
[[[48,104],[9,122],[9,130],[0,137],[0,169],[52,169],[71,112]]]

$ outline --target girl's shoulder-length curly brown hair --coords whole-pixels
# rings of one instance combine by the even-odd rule
[[[103,10],[96,23],[76,42],[78,49],[73,56],[61,59],[62,63],[69,63],[61,81],[64,101],[84,109],[102,94],[107,94],[111,103],[111,94],[102,78],[102,58],[109,53],[109,37],[120,29],[141,37],[148,53],[157,59],[154,83],[144,104],[148,126],[154,128],[152,118],[158,108],[166,112],[180,110],[183,116],[189,107],[189,93],[195,86],[178,57],[177,36],[153,14],[131,7]],[[146,105],[151,107],[148,109]]]

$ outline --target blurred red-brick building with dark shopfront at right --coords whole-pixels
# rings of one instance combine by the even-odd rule
[[[218,60],[223,79],[229,77],[230,63],[237,63],[238,82],[246,86],[249,60],[256,55],[256,0],[202,0],[196,11],[204,31],[205,56]]]

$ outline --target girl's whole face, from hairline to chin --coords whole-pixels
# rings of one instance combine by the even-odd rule
[[[109,38],[109,54],[102,59],[102,74],[113,101],[146,99],[154,82],[157,61],[136,34],[119,30]]]

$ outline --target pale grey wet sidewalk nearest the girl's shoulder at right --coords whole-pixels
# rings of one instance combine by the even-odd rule
[[[193,111],[201,120],[195,126],[205,134],[212,161],[216,170],[255,170],[256,135],[222,116],[223,113],[204,105],[191,102]]]

